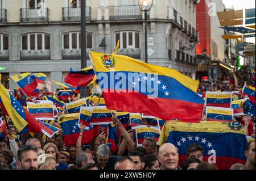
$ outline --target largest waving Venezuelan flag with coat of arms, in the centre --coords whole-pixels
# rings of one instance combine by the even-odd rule
[[[204,100],[196,94],[199,81],[126,56],[91,52],[90,58],[109,109],[200,121]]]

